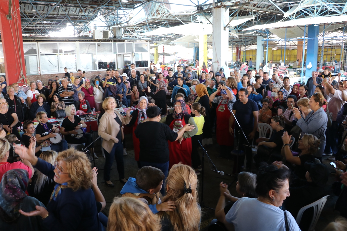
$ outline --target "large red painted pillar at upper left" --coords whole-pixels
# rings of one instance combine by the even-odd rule
[[[19,0],[0,0],[0,32],[5,58],[6,82],[10,85],[20,79],[21,72],[24,77],[26,76]]]

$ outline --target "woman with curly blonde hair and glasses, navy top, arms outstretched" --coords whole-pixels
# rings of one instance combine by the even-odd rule
[[[41,216],[48,230],[101,229],[92,186],[92,168],[85,153],[68,149],[59,152],[54,165],[35,156],[33,149],[16,146],[20,158],[32,163],[56,183],[46,208],[19,212],[25,216]]]

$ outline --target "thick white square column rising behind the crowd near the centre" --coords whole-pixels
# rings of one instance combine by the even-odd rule
[[[212,34],[212,47],[213,47],[213,65],[214,72],[225,65],[228,61],[229,51],[229,29],[224,27],[229,22],[229,8],[225,6],[217,6],[213,8],[213,34]]]

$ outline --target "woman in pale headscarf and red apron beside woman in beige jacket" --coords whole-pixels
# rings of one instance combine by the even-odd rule
[[[137,161],[138,168],[141,168],[139,155],[140,155],[140,141],[135,135],[135,130],[138,124],[142,123],[146,118],[146,110],[148,106],[148,99],[145,96],[141,96],[138,100],[138,105],[136,106],[136,110],[131,114],[131,121],[127,124],[128,127],[133,126],[133,144],[134,144],[134,152],[135,152],[135,160]]]

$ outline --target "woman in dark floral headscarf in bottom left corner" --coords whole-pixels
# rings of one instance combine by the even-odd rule
[[[25,193],[28,181],[28,171],[24,169],[12,169],[3,175],[0,184],[1,230],[42,230],[40,216],[27,217],[19,213],[19,210],[36,210],[37,205],[45,207]]]

